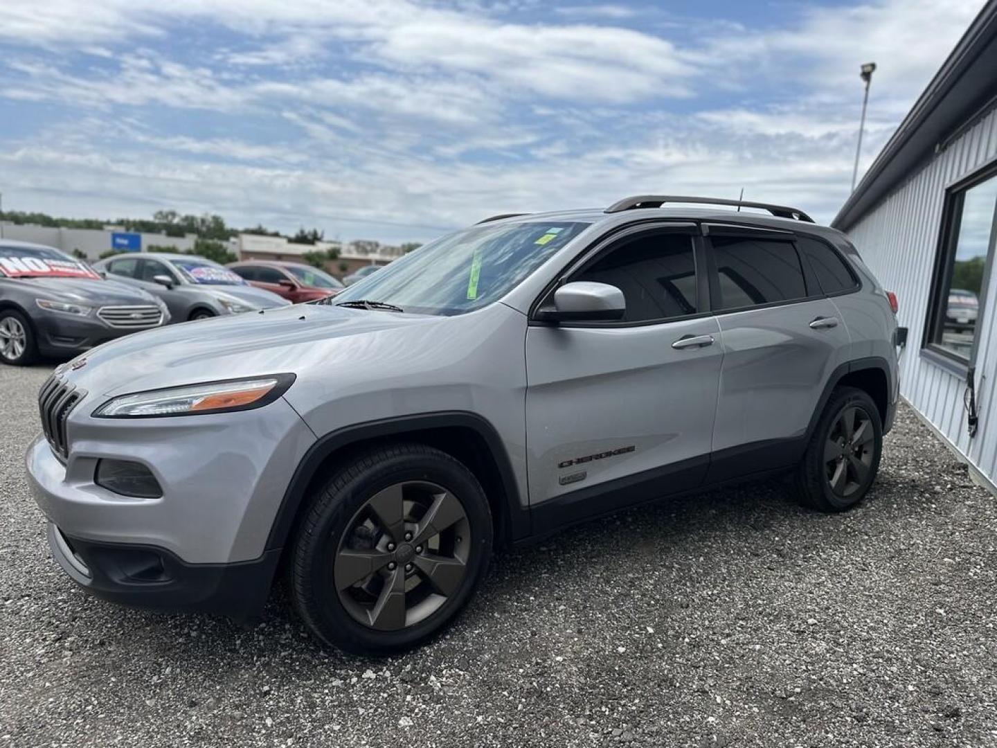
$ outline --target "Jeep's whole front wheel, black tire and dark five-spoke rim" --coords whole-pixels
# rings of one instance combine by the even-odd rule
[[[311,497],[288,587],[320,640],[385,654],[439,633],[471,599],[492,547],[488,499],[470,470],[425,445],[387,445],[355,455]]]

